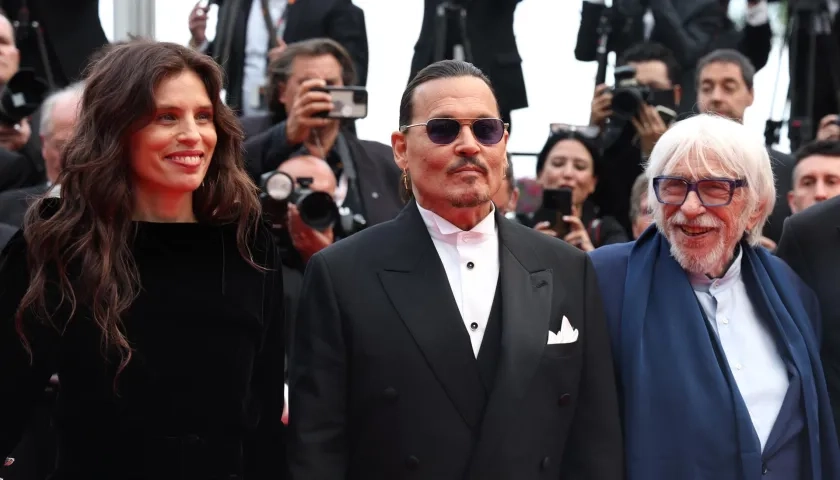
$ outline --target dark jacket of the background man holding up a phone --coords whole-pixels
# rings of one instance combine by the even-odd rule
[[[257,121],[254,125],[258,126]],[[359,140],[343,130],[358,177],[359,190],[368,225],[391,220],[404,202],[400,198],[400,175],[391,147],[379,142]],[[245,142],[248,174],[257,185],[260,176],[276,169],[302,145],[290,145],[286,139],[286,122],[280,122]],[[358,212],[357,212],[358,213]]]

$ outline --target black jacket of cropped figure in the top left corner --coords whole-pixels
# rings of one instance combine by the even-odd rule
[[[21,0],[0,2],[11,21],[18,19]],[[27,0],[30,20],[41,23],[56,87],[79,80],[90,56],[108,44],[99,20],[99,0]],[[44,76],[43,63],[34,33],[18,38],[21,66],[34,68]]]

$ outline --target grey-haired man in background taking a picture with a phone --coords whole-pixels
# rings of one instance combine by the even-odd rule
[[[263,173],[295,154],[321,158],[335,175],[338,205],[374,225],[396,217],[403,206],[391,147],[359,140],[341,119],[319,116],[334,106],[324,89],[344,86],[353,78],[350,68],[349,54],[333,40],[290,44],[272,65],[288,119],[245,142],[246,167],[259,184]]]

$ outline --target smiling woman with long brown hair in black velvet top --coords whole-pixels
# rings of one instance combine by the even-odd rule
[[[169,43],[91,66],[0,260],[0,458],[57,373],[56,479],[283,478],[280,262],[221,87]]]

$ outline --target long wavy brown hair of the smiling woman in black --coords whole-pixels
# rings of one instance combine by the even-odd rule
[[[140,289],[131,252],[130,137],[152,120],[161,81],[184,71],[203,80],[217,134],[204,182],[193,192],[195,216],[202,223],[236,223],[239,252],[259,268],[249,249],[260,222],[258,190],[244,169],[239,122],[219,97],[221,69],[209,56],[173,43],[133,40],[106,47],[86,72],[79,120],[62,155],[58,206],[55,199],[39,200],[24,222],[31,282],[16,325],[27,349],[25,312],[60,329],[83,307],[101,330],[106,358],[120,354],[117,375],[131,360],[121,322]],[[57,303],[48,295],[56,288]],[[69,317],[50,318],[58,311]]]

